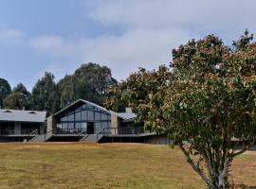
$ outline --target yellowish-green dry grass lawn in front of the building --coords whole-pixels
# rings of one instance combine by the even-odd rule
[[[178,149],[136,144],[0,144],[0,188],[205,188]],[[232,166],[256,185],[256,152]]]

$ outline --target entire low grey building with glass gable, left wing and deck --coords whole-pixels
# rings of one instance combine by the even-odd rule
[[[83,99],[47,119],[46,112],[0,110],[0,142],[170,143],[135,118],[131,109],[112,112]]]

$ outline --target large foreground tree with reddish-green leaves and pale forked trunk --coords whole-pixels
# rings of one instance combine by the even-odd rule
[[[209,188],[229,188],[229,166],[256,140],[256,43],[210,35],[173,50],[171,69],[140,69],[108,91],[147,127],[166,132]]]

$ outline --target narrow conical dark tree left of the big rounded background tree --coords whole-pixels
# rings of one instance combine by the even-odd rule
[[[47,111],[48,114],[57,112],[60,107],[60,98],[54,76],[46,72],[45,76],[37,81],[31,93],[31,109]]]

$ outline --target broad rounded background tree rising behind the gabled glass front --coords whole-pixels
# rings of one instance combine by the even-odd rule
[[[111,70],[106,66],[96,63],[82,64],[73,75],[65,76],[58,83],[61,108],[79,98],[102,105],[107,87],[116,83]]]

